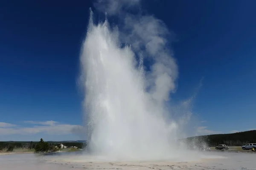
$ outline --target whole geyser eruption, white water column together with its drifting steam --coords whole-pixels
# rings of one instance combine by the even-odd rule
[[[94,25],[91,11],[81,50],[88,149],[112,158],[177,157],[183,153],[177,152],[179,125],[165,118],[171,115],[166,101],[178,77],[166,25],[127,12],[140,9],[140,0],[98,0],[94,6],[122,24],[111,29],[106,19]],[[148,68],[145,60],[152,63]]]

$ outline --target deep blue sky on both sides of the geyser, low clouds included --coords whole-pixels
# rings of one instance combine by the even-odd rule
[[[18,2],[0,7],[0,141],[81,139],[61,128],[82,124],[76,79],[93,4]],[[193,103],[201,134],[256,128],[255,6],[254,0],[142,1],[176,35],[173,100],[189,98],[203,78]]]

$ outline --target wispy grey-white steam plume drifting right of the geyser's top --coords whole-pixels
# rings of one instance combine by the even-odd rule
[[[178,68],[169,50],[166,36],[170,34],[162,20],[151,15],[129,14],[127,9],[140,11],[141,0],[98,0],[94,5],[99,12],[117,15],[124,21],[120,39],[132,46],[135,52],[143,53],[153,60],[147,72],[147,86],[152,98],[159,102],[169,100],[169,93],[175,92]]]

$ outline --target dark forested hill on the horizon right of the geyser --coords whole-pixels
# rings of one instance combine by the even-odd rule
[[[256,143],[256,130],[250,130],[238,133],[202,135],[183,139],[189,143],[207,143],[213,147],[219,144],[228,146],[241,146],[247,143]]]

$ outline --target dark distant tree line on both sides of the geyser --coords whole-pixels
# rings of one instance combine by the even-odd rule
[[[43,139],[41,139],[43,140]],[[28,141],[0,141],[0,150],[12,151],[17,148],[35,149],[35,150],[54,150],[55,146],[63,144],[66,147],[85,148],[86,144],[80,142],[28,142]],[[239,133],[202,135],[190,138],[181,139],[188,145],[208,145],[214,147],[219,144],[227,144],[228,146],[241,146],[248,143],[256,143],[256,130],[250,130]],[[44,149],[42,149],[44,148]]]

